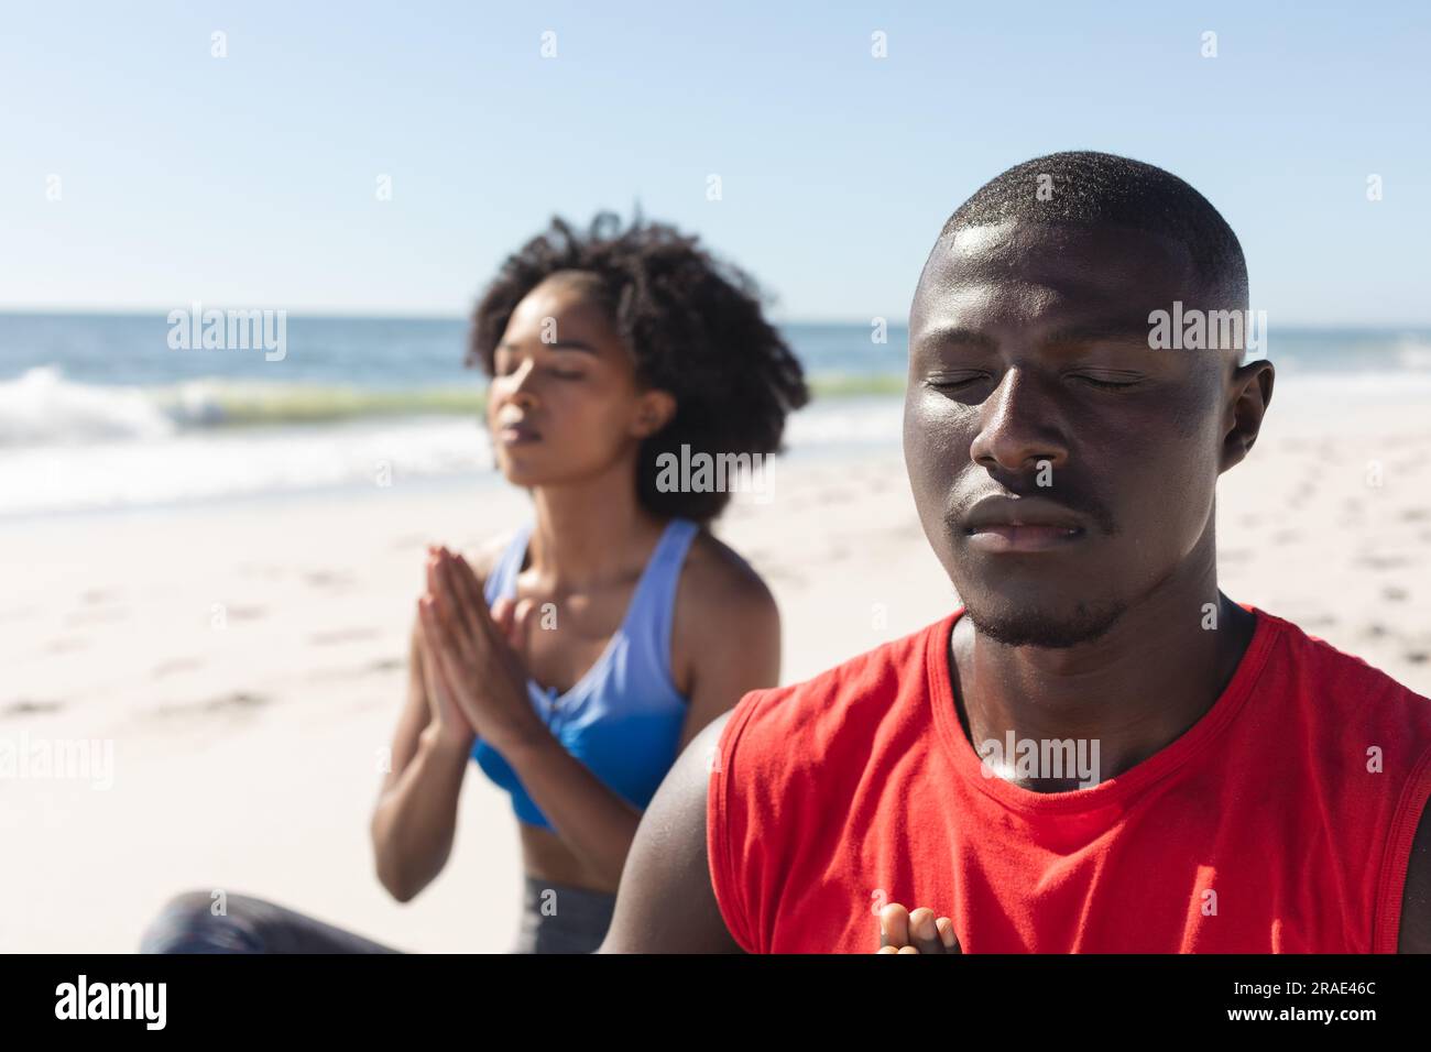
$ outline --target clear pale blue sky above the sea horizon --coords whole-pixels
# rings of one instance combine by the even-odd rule
[[[1431,14],[1411,0],[0,17],[0,308],[459,315],[552,213],[640,200],[756,273],[778,318],[903,321],[972,190],[1090,147],[1201,189],[1271,323],[1431,323]]]

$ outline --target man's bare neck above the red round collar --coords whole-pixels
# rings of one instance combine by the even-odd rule
[[[1045,741],[1082,741],[1098,757],[1093,777],[1106,781],[1181,737],[1226,688],[1255,628],[1255,617],[1218,590],[1215,568],[1202,577],[1211,580],[1156,590],[1098,640],[1060,650],[1007,647],[960,617],[950,677],[975,750],[985,754],[990,740],[1003,749],[1010,733],[1039,743],[1040,754]],[[1206,603],[1216,604],[1215,620]],[[1003,776],[1040,793],[1083,781],[1069,771]]]

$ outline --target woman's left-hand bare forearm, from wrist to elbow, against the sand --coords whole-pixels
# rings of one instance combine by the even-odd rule
[[[446,865],[471,747],[471,741],[429,724],[373,812],[378,880],[399,902],[412,899]]]

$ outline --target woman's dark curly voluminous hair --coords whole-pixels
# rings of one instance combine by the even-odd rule
[[[508,256],[472,315],[467,364],[494,375],[497,345],[522,298],[558,271],[594,275],[592,293],[635,361],[637,382],[671,392],[675,414],[644,439],[637,498],[651,514],[716,518],[730,492],[663,492],[658,457],[773,454],[786,417],[810,399],[798,359],[761,313],[744,271],[713,258],[698,238],[643,222],[627,229],[601,212],[581,233],[561,218]]]

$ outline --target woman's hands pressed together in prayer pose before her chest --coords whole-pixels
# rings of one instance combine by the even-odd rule
[[[436,719],[458,731],[465,724],[498,751],[547,734],[511,644],[525,627],[525,611],[507,601],[489,611],[482,583],[465,558],[445,547],[429,552],[428,591],[418,600],[418,617]]]

